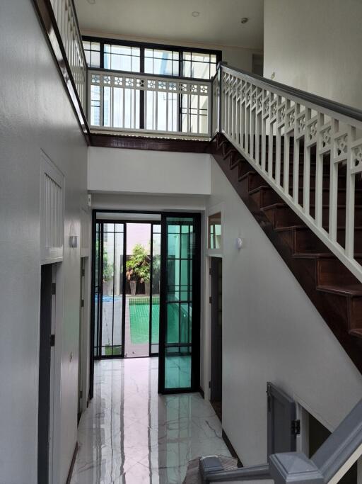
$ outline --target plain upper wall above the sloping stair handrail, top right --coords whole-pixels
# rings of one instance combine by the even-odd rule
[[[264,77],[362,108],[360,0],[264,2]]]

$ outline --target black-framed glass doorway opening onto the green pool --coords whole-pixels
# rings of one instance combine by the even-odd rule
[[[199,265],[199,214],[95,210],[92,359],[159,355],[160,393],[199,390]]]

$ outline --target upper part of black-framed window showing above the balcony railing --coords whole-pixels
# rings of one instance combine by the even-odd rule
[[[83,37],[88,67],[211,79],[221,50]]]

